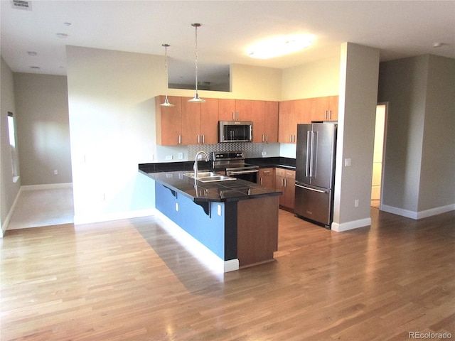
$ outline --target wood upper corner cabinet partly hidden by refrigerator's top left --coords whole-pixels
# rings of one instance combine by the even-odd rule
[[[279,103],[278,141],[295,144],[297,124],[311,122],[311,99],[294,99]]]

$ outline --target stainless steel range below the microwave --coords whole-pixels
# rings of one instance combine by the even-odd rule
[[[213,151],[211,159],[213,160],[212,166],[215,171],[225,171],[225,174],[232,178],[257,183],[259,166],[245,163],[245,153],[243,151]]]

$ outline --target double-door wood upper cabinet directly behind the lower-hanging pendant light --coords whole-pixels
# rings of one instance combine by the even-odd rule
[[[191,103],[182,97],[181,144],[218,143],[218,99],[208,98],[205,103]]]

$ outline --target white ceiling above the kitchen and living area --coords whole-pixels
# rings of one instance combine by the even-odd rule
[[[346,41],[379,48],[381,60],[427,53],[455,58],[455,1],[35,0],[31,11],[13,9],[11,2],[0,1],[1,56],[14,72],[65,75],[65,45],[164,55],[161,44],[168,43],[170,81],[187,73],[194,77],[191,23],[202,24],[202,81],[210,81],[207,72],[216,72],[210,65],[287,68],[338,55]],[[272,60],[247,56],[258,40],[296,33],[313,35],[314,44]],[[181,69],[185,63],[188,70]]]

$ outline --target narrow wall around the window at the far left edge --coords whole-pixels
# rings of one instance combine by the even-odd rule
[[[0,237],[3,237],[21,188],[21,178],[13,181],[8,135],[8,112],[16,115],[13,72],[1,57],[0,67]]]

